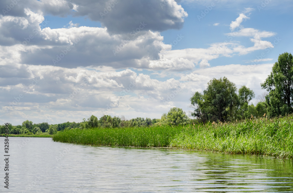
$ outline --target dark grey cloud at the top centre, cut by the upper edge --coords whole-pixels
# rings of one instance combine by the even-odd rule
[[[110,33],[129,33],[146,25],[142,30],[165,31],[183,27],[184,17],[188,14],[174,0],[72,0],[77,5],[76,16],[88,16],[101,22]],[[151,11],[150,11],[151,10]]]

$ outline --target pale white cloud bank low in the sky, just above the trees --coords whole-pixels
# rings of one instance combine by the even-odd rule
[[[259,84],[268,76],[272,65],[215,66],[184,73],[179,80],[169,78],[165,81],[130,69],[118,72],[22,65],[18,71],[26,71],[28,76],[19,77],[10,86],[0,85],[0,113],[5,115],[1,117],[3,119],[18,116],[15,121],[29,119],[42,122],[46,119],[45,122],[50,124],[81,121],[92,114],[149,117],[148,113],[156,112],[152,118],[158,118],[172,106],[189,110],[189,98],[195,91],[205,90],[212,78],[226,76],[237,87],[246,85],[256,95],[260,94]],[[15,72],[6,78],[14,76]],[[21,100],[13,102],[20,94],[23,94]],[[36,112],[44,120],[40,120]]]

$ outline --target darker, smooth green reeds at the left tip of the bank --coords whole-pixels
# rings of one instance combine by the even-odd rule
[[[167,147],[171,137],[183,127],[130,127],[115,129],[72,129],[54,135],[54,141],[85,145],[111,145],[135,147]]]

